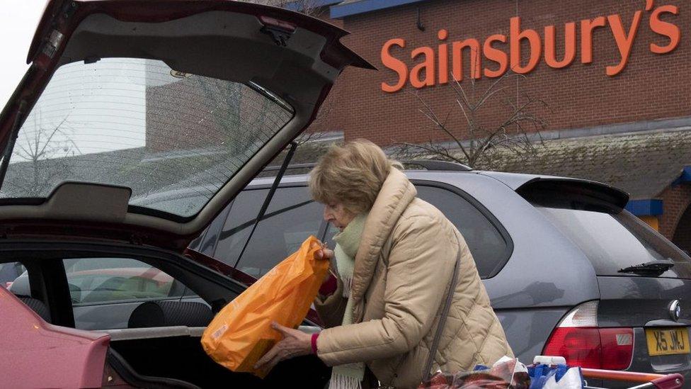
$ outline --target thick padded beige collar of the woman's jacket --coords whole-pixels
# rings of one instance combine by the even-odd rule
[[[353,286],[350,291],[353,303],[358,303],[365,295],[384,242],[389,239],[396,222],[416,194],[415,186],[408,177],[399,169],[392,168],[365,220],[365,230],[355,256]]]

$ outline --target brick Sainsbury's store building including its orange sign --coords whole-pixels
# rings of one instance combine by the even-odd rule
[[[547,158],[549,152],[542,152],[534,158],[537,162],[514,161],[502,169],[570,174],[620,186],[632,193],[630,210],[691,250],[691,184],[684,179],[691,148],[678,149],[678,142],[687,140],[691,130],[689,1],[326,0],[323,4],[330,8],[331,18],[350,31],[343,42],[379,71],[347,69],[325,104],[328,114],[312,130],[342,131],[345,139],[365,137],[382,146],[448,140],[420,112],[423,101],[447,118],[458,137],[467,138],[452,77],[461,79],[465,91],[472,91],[474,84],[479,93],[505,68],[513,69],[522,75],[501,79],[502,98],[518,104],[544,101],[544,106],[531,109],[546,120],[542,135],[552,149],[561,150],[560,142],[576,138],[583,138],[582,147],[596,142],[599,148],[568,160]],[[539,40],[539,48],[531,46],[530,39]],[[480,72],[472,72],[475,49]],[[404,81],[400,89],[399,81]],[[493,125],[508,110],[497,101],[479,113],[478,120]],[[662,143],[656,143],[654,150],[646,146],[651,134],[680,132],[683,135],[656,138]],[[632,133],[636,147],[627,143],[634,140],[621,137]],[[615,144],[617,155],[630,159],[632,167],[612,160],[609,154]],[[646,154],[664,156],[666,148],[676,148],[673,160],[656,161]],[[590,158],[586,162],[584,154]],[[579,170],[576,164],[584,163],[594,168]],[[656,167],[646,167],[647,163]],[[632,181],[624,170],[634,166],[640,171],[634,172]],[[617,172],[603,174],[607,169]],[[666,181],[660,191],[639,191],[649,179],[661,177]]]

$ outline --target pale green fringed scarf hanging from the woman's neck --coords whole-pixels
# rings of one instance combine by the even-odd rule
[[[343,297],[348,298],[342,325],[353,324],[353,299],[350,298],[350,288],[353,286],[355,254],[358,253],[362,231],[365,230],[365,220],[367,220],[367,213],[356,216],[345,226],[342,232],[333,237],[334,242],[336,242],[333,254],[336,256],[338,276],[343,281]],[[333,366],[329,389],[360,389],[364,378],[365,363]]]

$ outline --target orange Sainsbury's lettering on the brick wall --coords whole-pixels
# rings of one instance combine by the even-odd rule
[[[480,43],[479,40],[468,38],[452,43],[447,42],[449,33],[447,30],[439,30],[437,38],[439,45],[433,47],[416,47],[410,52],[410,58],[418,63],[412,69],[403,60],[392,55],[392,47],[406,47],[406,41],[402,38],[387,40],[382,46],[382,64],[392,69],[398,74],[398,79],[389,84],[382,82],[382,91],[395,92],[403,88],[406,83],[410,83],[415,88],[424,88],[436,84],[447,84],[450,80],[463,79],[463,58],[462,53],[469,52],[469,64],[471,65],[469,74],[474,79],[481,77],[501,77],[511,69],[518,74],[525,74],[535,69],[538,62],[544,59],[547,66],[554,69],[561,69],[573,63],[576,59],[576,51],[581,52],[581,63],[588,64],[593,62],[593,31],[598,28],[609,26],[614,43],[619,49],[619,61],[605,67],[607,76],[615,76],[622,72],[629,62],[631,49],[641,26],[644,15],[648,16],[648,26],[656,35],[666,38],[665,44],[658,45],[650,43],[649,50],[655,54],[666,54],[672,52],[679,45],[681,31],[678,26],[670,22],[670,18],[679,14],[678,6],[663,5],[654,6],[654,0],[646,0],[645,11],[639,10],[634,13],[629,28],[624,26],[622,18],[615,14],[610,16],[599,16],[594,19],[586,19],[580,23],[571,22],[564,26],[564,55],[556,57],[555,26],[546,26],[544,36],[541,37],[536,30],[521,28],[520,17],[515,16],[509,21],[509,35],[491,35]],[[665,14],[671,14],[663,20]],[[577,26],[578,24],[578,26]],[[581,34],[581,45],[576,47],[576,33]],[[530,47],[527,52],[521,52],[521,43],[525,41]],[[505,52],[496,47],[498,43],[507,43],[509,52]],[[544,55],[543,55],[544,52]],[[527,57],[527,63],[522,63],[522,59]],[[419,62],[421,60],[421,62]],[[451,71],[449,71],[451,64]],[[483,66],[484,65],[484,66]]]

